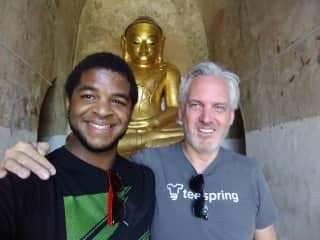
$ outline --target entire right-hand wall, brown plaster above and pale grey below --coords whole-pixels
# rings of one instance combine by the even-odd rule
[[[320,230],[320,2],[233,1],[206,18],[210,56],[241,76],[248,155],[279,208],[279,239]]]

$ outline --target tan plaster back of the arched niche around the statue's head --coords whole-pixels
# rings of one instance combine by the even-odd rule
[[[74,63],[97,51],[121,55],[121,35],[139,16],[150,16],[159,23],[166,37],[164,58],[182,74],[208,59],[203,19],[193,0],[87,0],[79,21]]]

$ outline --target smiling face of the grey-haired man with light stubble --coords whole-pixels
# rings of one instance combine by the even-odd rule
[[[227,82],[207,75],[193,79],[179,116],[189,146],[199,152],[216,151],[234,119]]]

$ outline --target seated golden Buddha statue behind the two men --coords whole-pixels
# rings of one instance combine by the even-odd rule
[[[180,73],[163,62],[165,38],[160,26],[150,17],[139,17],[121,37],[125,61],[138,85],[138,102],[119,152],[129,155],[145,147],[177,142],[183,136],[176,123]]]

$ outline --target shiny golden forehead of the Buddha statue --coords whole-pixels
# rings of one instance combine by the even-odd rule
[[[135,23],[130,25],[126,31],[125,36],[129,35],[137,35],[137,36],[143,36],[143,35],[153,35],[157,37],[162,37],[162,31],[161,29],[150,23]]]

